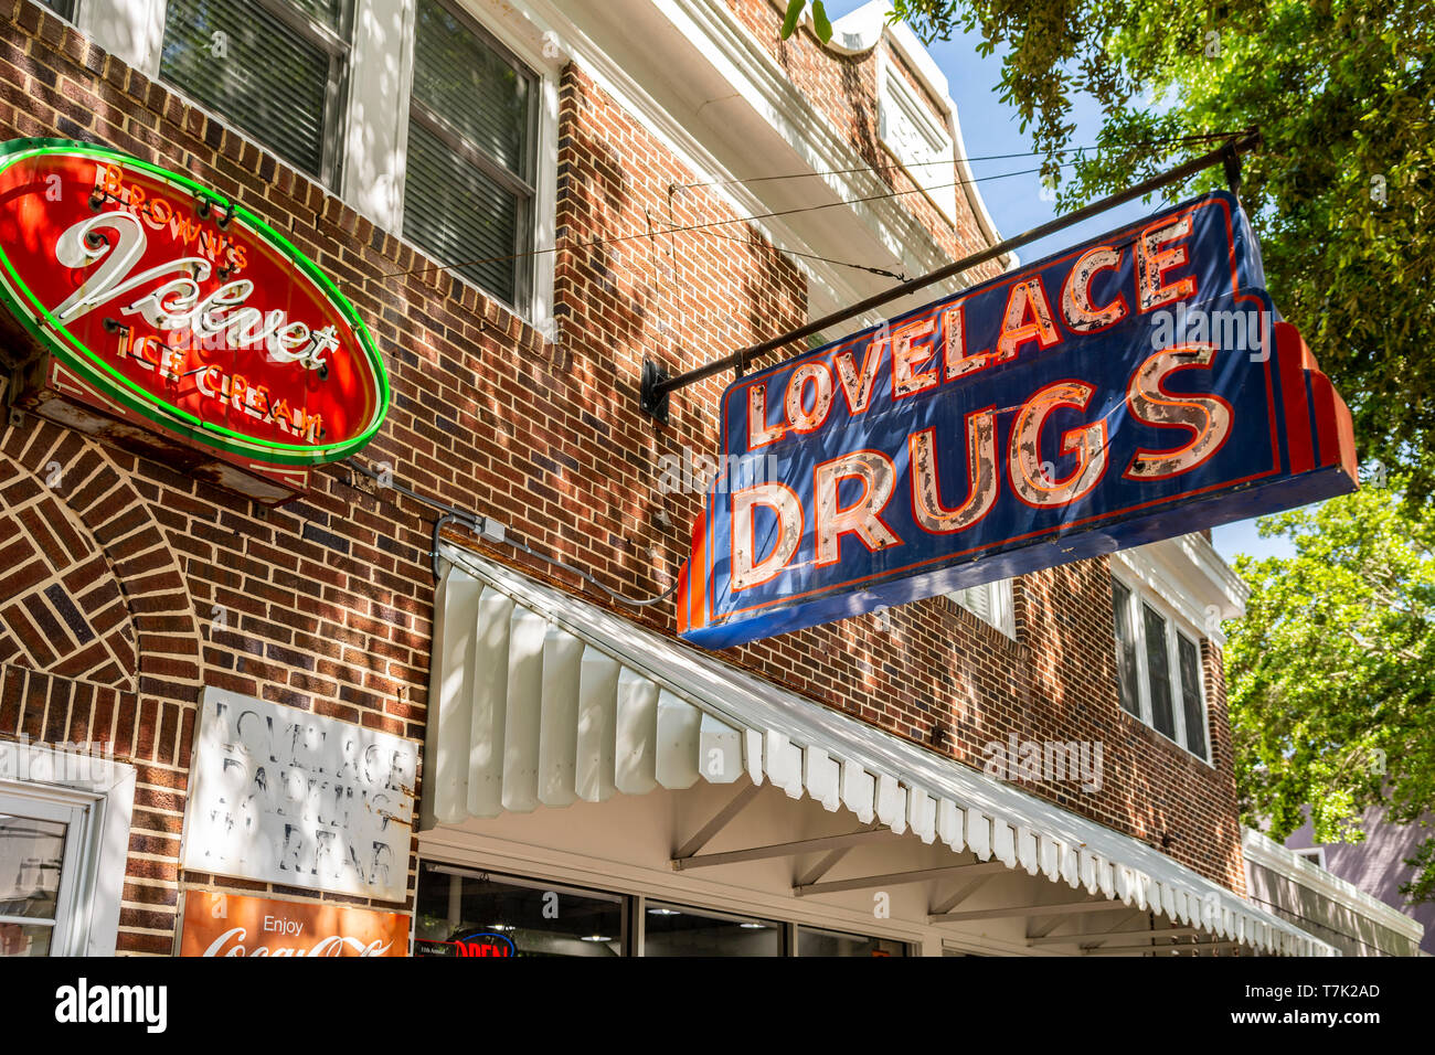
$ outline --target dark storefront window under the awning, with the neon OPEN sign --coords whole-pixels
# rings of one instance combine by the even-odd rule
[[[415,956],[486,953],[505,943],[517,956],[623,956],[623,899],[532,880],[426,864],[419,873]]]

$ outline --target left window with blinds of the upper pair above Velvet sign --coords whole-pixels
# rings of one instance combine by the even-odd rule
[[[334,185],[352,0],[168,0],[159,76]]]

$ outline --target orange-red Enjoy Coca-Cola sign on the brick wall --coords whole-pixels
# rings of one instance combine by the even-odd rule
[[[181,956],[406,956],[408,947],[402,913],[185,891]]]

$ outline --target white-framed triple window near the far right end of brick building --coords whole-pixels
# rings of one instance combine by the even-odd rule
[[[1208,759],[1198,637],[1154,596],[1115,576],[1111,603],[1121,706],[1192,755]]]

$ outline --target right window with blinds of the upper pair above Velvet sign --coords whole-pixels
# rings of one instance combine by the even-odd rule
[[[419,0],[415,20],[403,234],[524,310],[538,78],[441,0]]]

